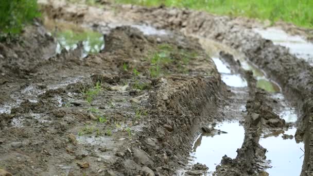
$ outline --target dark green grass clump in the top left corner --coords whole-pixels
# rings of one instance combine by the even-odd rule
[[[2,0],[0,32],[21,33],[24,25],[40,15],[36,0]]]

